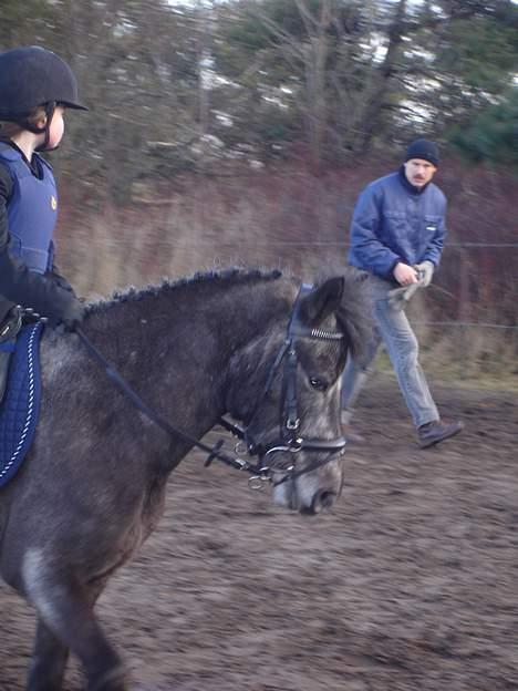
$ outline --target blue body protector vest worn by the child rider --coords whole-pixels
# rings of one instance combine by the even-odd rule
[[[7,205],[9,252],[33,271],[44,274],[53,264],[58,192],[52,166],[38,154],[34,156],[41,179],[32,174],[20,152],[0,143],[0,161],[9,169],[13,183]]]

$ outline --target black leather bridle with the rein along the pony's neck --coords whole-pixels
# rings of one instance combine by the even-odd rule
[[[231,432],[240,440],[235,448],[235,456],[228,455],[222,451],[224,440],[219,440],[214,446],[209,446],[196,437],[174,427],[160,415],[158,415],[153,409],[151,409],[141,396],[130,386],[130,384],[123,379],[123,377],[115,370],[114,367],[104,358],[104,355],[95,348],[91,340],[86,337],[83,330],[79,327],[75,328],[75,332],[86,347],[89,353],[100,364],[106,375],[117,385],[117,388],[128,398],[132,403],[153,423],[158,427],[167,432],[170,436],[182,439],[188,442],[193,446],[197,446],[201,451],[208,454],[205,461],[205,466],[208,467],[214,460],[221,461],[227,465],[230,465],[237,470],[246,471],[251,474],[249,478],[249,486],[252,489],[262,488],[265,482],[273,482],[274,485],[282,484],[284,482],[294,481],[297,477],[311,473],[312,471],[327,465],[334,460],[334,454],[341,452],[345,446],[345,439],[338,436],[333,440],[321,439],[304,439],[298,435],[300,427],[300,417],[298,414],[298,399],[297,399],[297,369],[299,364],[296,344],[300,339],[312,340],[341,340],[344,334],[341,332],[323,331],[321,329],[310,329],[301,323],[300,320],[300,305],[301,298],[311,291],[312,287],[302,283],[299,295],[297,296],[296,303],[291,313],[291,318],[288,324],[288,331],[283,343],[281,344],[276,359],[270,368],[265,388],[253,408],[253,412],[248,421],[246,427],[241,427],[229,420],[221,417],[219,423],[227,431]],[[280,435],[279,439],[268,444],[261,444],[253,440],[250,426],[260,408],[270,391],[274,377],[283,363],[282,372],[282,404],[280,415]],[[259,463],[251,463],[250,461],[241,458],[239,447],[245,444],[245,450],[248,456],[258,457]],[[276,453],[292,453],[297,454],[301,451],[317,451],[328,452],[328,457],[320,461],[315,461],[301,470],[297,470],[296,463],[290,464],[283,476],[280,479],[274,479],[274,475],[279,473],[279,468],[276,470],[273,464],[270,464]]]

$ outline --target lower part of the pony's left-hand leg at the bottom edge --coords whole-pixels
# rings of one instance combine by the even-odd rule
[[[28,691],[59,691],[63,685],[68,659],[68,648],[39,618],[27,682]]]

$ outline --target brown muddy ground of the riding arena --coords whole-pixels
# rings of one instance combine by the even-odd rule
[[[395,382],[364,393],[344,494],[315,518],[246,477],[173,475],[166,515],[102,620],[146,691],[518,690],[516,393],[435,386],[465,433],[418,451]],[[23,689],[33,615],[0,586],[0,690]],[[81,688],[77,670],[69,690]]]

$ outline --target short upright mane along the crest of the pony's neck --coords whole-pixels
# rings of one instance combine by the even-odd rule
[[[214,271],[198,271],[191,276],[182,277],[177,280],[164,278],[160,283],[148,285],[143,288],[131,286],[124,291],[115,291],[111,298],[102,298],[96,302],[91,302],[86,312],[89,314],[105,311],[121,302],[143,300],[148,296],[157,296],[170,292],[185,286],[194,286],[207,282],[232,282],[250,283],[258,281],[272,281],[283,276],[278,269],[247,269],[244,267],[230,267]]]

